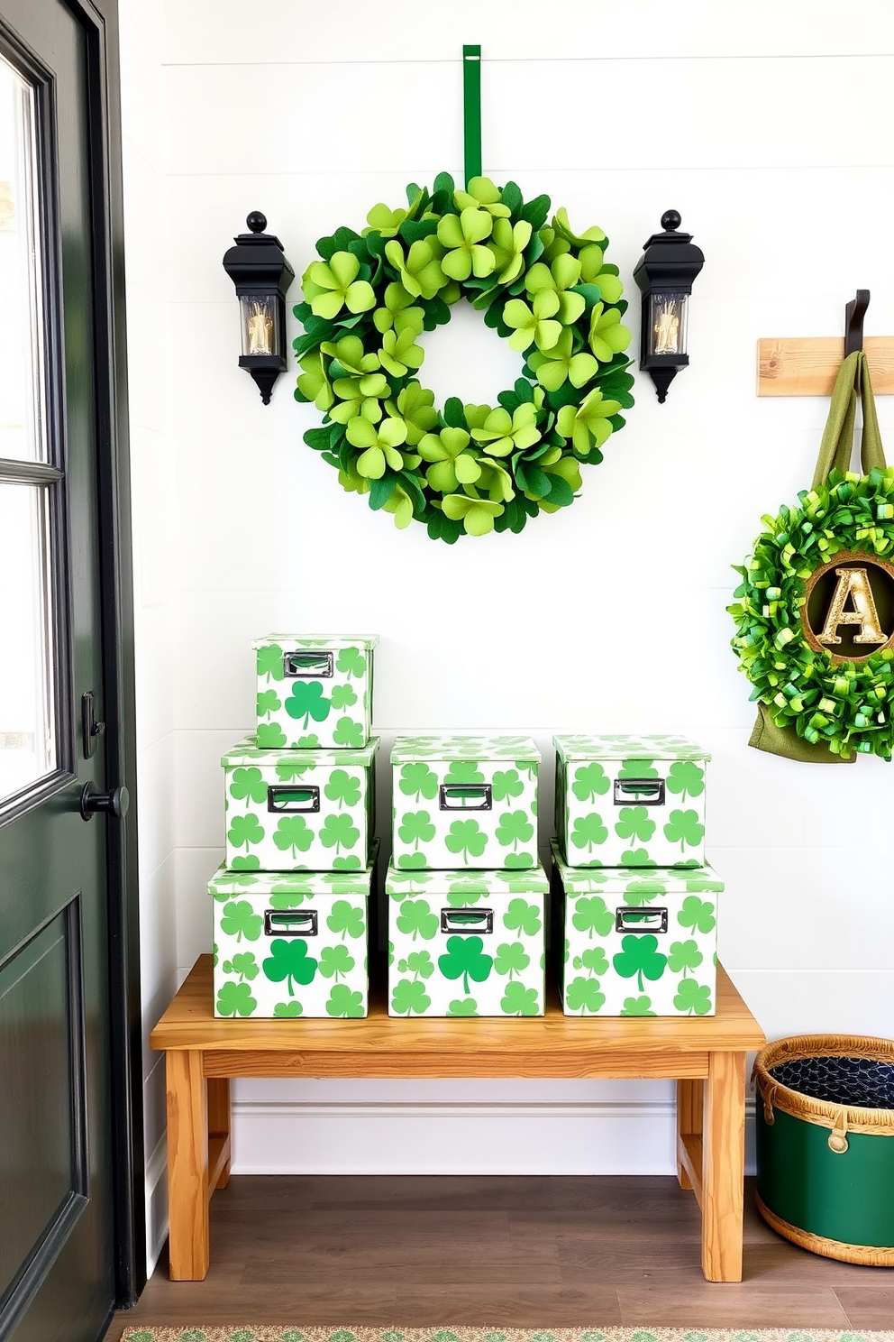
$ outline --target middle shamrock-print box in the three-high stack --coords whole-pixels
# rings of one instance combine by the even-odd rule
[[[259,750],[245,737],[221,758],[227,866],[233,871],[361,871],[374,829],[373,761],[361,750]]]

